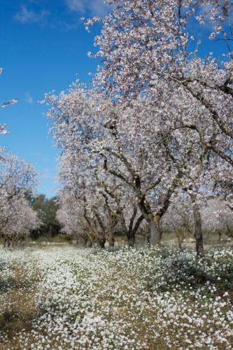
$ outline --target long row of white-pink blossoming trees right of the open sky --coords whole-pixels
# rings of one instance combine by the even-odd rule
[[[118,225],[133,246],[144,221],[155,246],[169,207],[187,197],[203,254],[200,208],[220,195],[232,212],[233,4],[108,3],[108,16],[85,23],[102,23],[93,88],[76,82],[45,96],[62,149],[57,217],[66,232],[100,246],[114,245]],[[204,58],[200,27],[211,28],[204,45],[213,52]]]

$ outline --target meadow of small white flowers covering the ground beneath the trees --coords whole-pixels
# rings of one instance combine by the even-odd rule
[[[0,349],[232,349],[232,248],[0,251]]]

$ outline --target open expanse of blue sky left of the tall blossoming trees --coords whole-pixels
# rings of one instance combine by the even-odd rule
[[[0,110],[8,135],[0,145],[27,160],[41,173],[38,192],[55,195],[59,151],[48,137],[46,108],[38,104],[45,92],[66,90],[76,79],[86,81],[97,61],[87,57],[93,48],[81,17],[104,15],[101,0],[1,1],[0,102],[17,97],[18,103]]]

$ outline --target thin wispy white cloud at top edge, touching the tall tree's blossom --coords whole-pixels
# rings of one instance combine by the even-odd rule
[[[103,0],[65,0],[69,10],[80,14],[104,16],[109,13],[111,6],[106,5]]]

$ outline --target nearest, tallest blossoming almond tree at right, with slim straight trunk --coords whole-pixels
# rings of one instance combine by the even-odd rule
[[[220,165],[219,172],[222,166],[233,165],[232,3],[207,0],[109,3],[113,10],[104,18],[101,35],[95,39],[99,46],[95,56],[100,56],[103,62],[95,83],[105,96],[123,106],[132,108],[139,96],[150,101],[151,113],[146,113],[144,120],[149,118],[148,125],[160,134],[160,141],[154,138],[155,145],[160,142],[167,148],[181,187],[190,194],[197,253],[203,253],[197,193],[208,185],[205,181],[211,177],[211,172],[208,176],[204,172],[213,169],[213,165]],[[204,6],[209,6],[210,15]],[[88,20],[86,25],[97,20]],[[227,43],[227,52],[221,52],[225,55],[222,62],[213,53],[202,59],[198,48],[193,51],[192,30],[196,32],[198,25],[205,22],[213,25],[210,40],[219,36]],[[136,119],[135,113],[130,129],[133,134]],[[186,186],[189,180],[191,187]],[[199,184],[196,190],[194,183]]]

